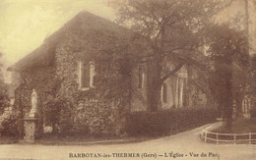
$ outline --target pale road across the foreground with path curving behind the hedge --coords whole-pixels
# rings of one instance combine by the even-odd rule
[[[71,146],[51,146],[51,145],[22,145],[22,144],[6,144],[0,145],[0,159],[108,159],[108,160],[133,160],[145,159],[153,160],[153,157],[144,157],[142,155],[157,155],[157,159],[169,160],[173,157],[164,157],[164,154],[171,156],[169,153],[183,154],[184,157],[176,157],[175,159],[205,159],[205,160],[250,160],[256,159],[256,144],[212,144],[205,143],[199,138],[199,134],[204,127],[195,129],[186,133],[179,133],[161,137],[154,140],[148,140],[138,143],[128,144],[109,144],[109,145],[71,145]],[[199,157],[190,156],[190,153],[199,154]],[[206,157],[201,157],[205,153]],[[110,155],[111,157],[90,157],[90,158],[69,158],[69,155],[78,156],[76,153],[100,153],[101,156]],[[113,153],[139,153],[140,157],[114,158]],[[146,154],[144,154],[146,153]],[[213,154],[216,154],[215,157]],[[209,155],[211,154],[211,156]],[[89,155],[89,154],[87,154]],[[94,154],[92,154],[94,155]],[[162,155],[162,156],[161,156]],[[219,157],[217,156],[219,155]],[[136,154],[135,154],[136,156]]]

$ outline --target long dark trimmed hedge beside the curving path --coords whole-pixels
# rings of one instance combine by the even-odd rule
[[[216,108],[175,108],[158,112],[134,112],[128,115],[125,132],[129,135],[167,135],[212,123]]]

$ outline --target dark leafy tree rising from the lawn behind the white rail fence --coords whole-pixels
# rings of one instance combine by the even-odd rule
[[[207,55],[213,62],[209,84],[220,109],[226,129],[231,130],[233,101],[241,113],[242,99],[248,91],[249,57],[246,31],[230,28],[227,24],[207,27],[205,43]]]

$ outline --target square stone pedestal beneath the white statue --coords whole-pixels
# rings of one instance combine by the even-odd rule
[[[37,134],[37,121],[38,118],[28,117],[24,119],[25,136],[22,142],[34,143]]]

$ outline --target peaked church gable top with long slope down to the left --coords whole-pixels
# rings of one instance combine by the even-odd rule
[[[77,39],[77,43],[83,38],[87,38],[87,43],[92,43],[95,46],[105,45],[104,43],[101,43],[101,40],[109,41],[110,38],[113,40],[120,40],[120,37],[126,39],[130,37],[129,35],[134,34],[132,31],[126,29],[125,27],[120,27],[108,20],[83,11],[80,12],[71,21],[69,21],[66,25],[46,38],[43,44],[32,51],[32,53],[25,56],[13,66],[9,67],[8,71],[23,72],[36,68],[53,66],[55,61],[56,46],[63,39],[69,38],[66,36],[68,35],[68,32],[86,35],[85,37],[80,37],[80,39]],[[88,35],[91,35],[91,37],[88,37]],[[105,37],[105,39],[93,39],[96,36]],[[90,38],[92,38],[91,41]],[[96,40],[98,41],[96,42]],[[75,44],[74,47],[76,47],[78,51],[83,50],[83,48],[79,49],[79,47],[77,47]]]

